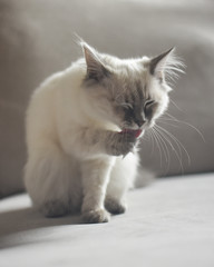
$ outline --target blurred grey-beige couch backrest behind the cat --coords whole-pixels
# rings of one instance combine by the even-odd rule
[[[187,68],[168,113],[182,122],[166,116],[160,126],[178,141],[166,132],[156,137],[162,145],[145,138],[142,161],[158,176],[214,170],[213,24],[210,0],[0,0],[0,197],[23,188],[26,107],[47,76],[81,56],[74,32],[120,58],[175,46]]]

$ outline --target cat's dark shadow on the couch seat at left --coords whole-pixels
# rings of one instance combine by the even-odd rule
[[[20,238],[30,230],[79,224],[79,215],[46,218],[32,207],[0,212],[0,249],[31,243],[29,238]]]

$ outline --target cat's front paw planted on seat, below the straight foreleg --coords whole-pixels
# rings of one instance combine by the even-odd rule
[[[84,212],[81,219],[85,224],[100,224],[108,222],[110,216],[105,209],[98,209]]]

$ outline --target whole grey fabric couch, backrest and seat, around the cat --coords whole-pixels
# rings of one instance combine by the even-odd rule
[[[169,178],[132,191],[128,212],[100,226],[45,219],[25,194],[0,200],[2,266],[214,266],[213,29],[208,0],[0,0],[0,198],[23,191],[26,107],[47,76],[81,56],[75,32],[121,58],[175,46],[187,66],[162,122],[176,152],[149,137],[140,149],[142,164]]]

